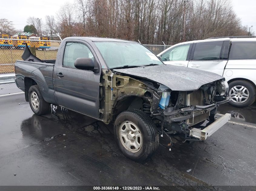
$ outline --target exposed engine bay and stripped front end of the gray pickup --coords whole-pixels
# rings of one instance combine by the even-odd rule
[[[188,91],[178,91],[138,75],[131,77],[118,70],[105,70],[101,84],[100,111],[105,123],[115,120],[124,110],[139,109],[150,116],[161,137],[165,135],[170,140],[170,135],[181,133],[185,140],[197,140],[190,135],[190,130],[206,120],[206,126],[213,123],[218,105],[229,101],[228,83],[221,76],[199,87],[195,84],[198,89],[190,90],[190,87]],[[201,129],[206,126],[201,126]]]

